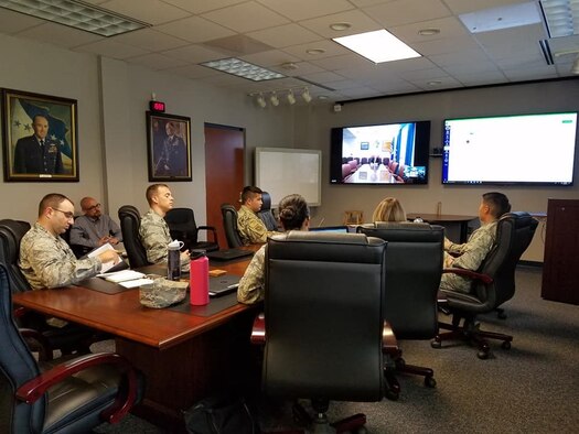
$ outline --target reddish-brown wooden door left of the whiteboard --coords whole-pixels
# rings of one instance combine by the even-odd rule
[[[222,204],[239,208],[244,187],[245,130],[205,123],[205,186],[207,225],[217,229],[221,249],[227,249]]]

